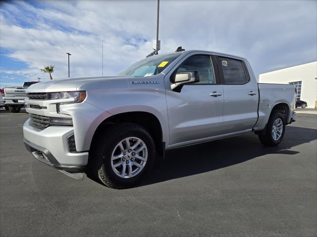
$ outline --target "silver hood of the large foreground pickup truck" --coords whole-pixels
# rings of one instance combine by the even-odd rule
[[[127,76],[107,76],[107,77],[86,77],[86,78],[68,78],[53,79],[45,82],[35,83],[29,86],[26,92],[55,92],[55,91],[74,91],[82,84],[87,82],[127,80],[133,77]]]

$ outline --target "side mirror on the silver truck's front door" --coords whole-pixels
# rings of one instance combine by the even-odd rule
[[[173,82],[173,84],[170,85],[171,89],[180,92],[183,85],[199,82],[199,72],[196,70],[176,73],[173,75],[171,81]]]

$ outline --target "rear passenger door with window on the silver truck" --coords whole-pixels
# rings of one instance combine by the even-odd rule
[[[223,133],[252,129],[258,119],[258,83],[250,81],[243,60],[216,56],[223,85]]]

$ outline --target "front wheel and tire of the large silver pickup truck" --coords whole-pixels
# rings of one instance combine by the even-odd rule
[[[131,150],[127,147],[127,139]],[[92,149],[92,169],[109,188],[123,189],[136,185],[154,165],[155,143],[142,126],[134,123],[114,124],[100,133],[97,141]],[[138,142],[140,144],[134,148]],[[138,152],[141,148],[143,150]]]

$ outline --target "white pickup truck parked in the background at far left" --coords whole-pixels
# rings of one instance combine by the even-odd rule
[[[12,113],[19,113],[24,107],[24,99],[26,98],[25,90],[32,84],[39,81],[26,81],[21,87],[3,87],[1,89],[1,96],[4,106]]]

